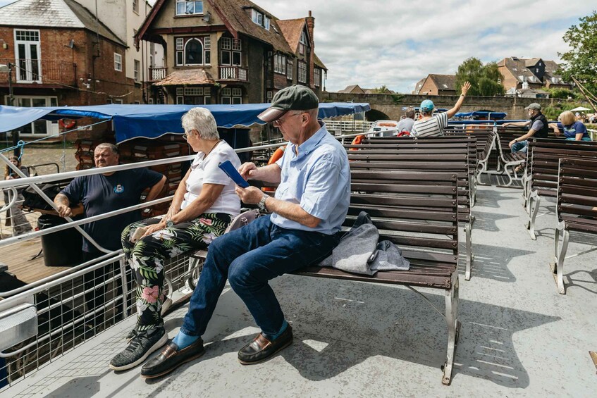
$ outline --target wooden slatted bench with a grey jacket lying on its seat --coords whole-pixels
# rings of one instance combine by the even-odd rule
[[[352,162],[351,162],[352,163]],[[458,206],[456,173],[359,170],[351,164],[350,209],[345,227],[366,211],[380,232],[410,261],[410,270],[378,272],[374,276],[309,266],[297,275],[359,282],[438,289],[445,294],[448,349],[442,383],[450,384],[460,322],[458,306]],[[436,210],[432,210],[436,209]],[[422,295],[422,294],[421,294]],[[430,301],[427,301],[431,304]],[[433,305],[433,304],[432,304]],[[435,307],[434,307],[435,308]],[[439,313],[438,309],[436,309]]]

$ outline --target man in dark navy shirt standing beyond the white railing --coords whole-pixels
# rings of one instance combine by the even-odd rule
[[[113,144],[99,144],[94,151],[95,166],[98,168],[118,165],[118,148]],[[58,206],[62,217],[76,215],[71,206],[82,204],[85,216],[92,217],[109,211],[124,209],[128,206],[139,204],[141,193],[149,188],[145,201],[155,199],[161,192],[166,177],[146,168],[133,170],[120,170],[112,173],[85,175],[77,177],[64,188],[54,203]],[[74,212],[73,212],[74,211]],[[87,223],[83,230],[104,249],[121,249],[121,232],[135,221],[141,220],[140,211],[129,211],[119,216],[104,218],[103,220]],[[93,244],[83,238],[83,261],[90,261],[101,256]],[[94,285],[101,285],[94,292],[85,294],[87,311],[94,311],[104,305],[105,275],[110,272],[111,266],[98,268],[94,273],[85,274],[85,290],[90,290]],[[117,311],[118,312],[118,311]],[[96,323],[103,321],[104,311],[99,311],[95,318]],[[100,315],[101,314],[101,315]]]

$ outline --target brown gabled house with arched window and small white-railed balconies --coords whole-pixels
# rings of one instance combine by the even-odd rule
[[[271,101],[307,85],[321,94],[326,66],[314,51],[315,18],[279,20],[248,0],[158,0],[135,39],[164,46],[152,98],[166,104]]]

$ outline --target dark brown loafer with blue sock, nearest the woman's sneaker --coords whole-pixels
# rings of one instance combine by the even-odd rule
[[[183,363],[199,358],[204,352],[205,349],[201,337],[189,347],[180,350],[176,343],[170,341],[158,356],[143,365],[141,368],[141,377],[151,379],[167,375]]]

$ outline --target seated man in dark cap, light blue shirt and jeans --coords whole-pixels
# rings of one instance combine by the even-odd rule
[[[203,354],[201,335],[226,279],[261,328],[238,352],[240,363],[266,361],[293,341],[269,280],[325,259],[338,244],[350,201],[346,151],[317,120],[318,107],[311,89],[295,85],[276,93],[258,116],[279,128],[288,145],[276,163],[261,168],[244,163],[238,171],[247,180],[279,185],[275,197],[257,187],[236,192],[271,214],[211,243],[180,332],[143,366],[142,377],[165,375]]]

